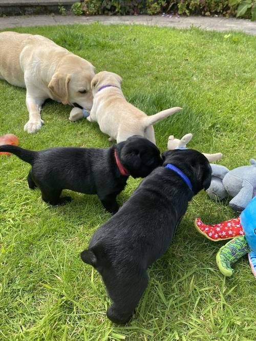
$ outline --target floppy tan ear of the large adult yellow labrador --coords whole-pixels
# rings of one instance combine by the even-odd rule
[[[70,75],[56,72],[48,84],[54,96],[56,96],[63,104],[69,103],[69,89]]]

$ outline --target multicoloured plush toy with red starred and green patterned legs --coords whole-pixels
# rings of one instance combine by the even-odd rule
[[[195,220],[196,229],[212,241],[230,239],[220,248],[216,256],[218,267],[223,275],[231,276],[231,265],[248,253],[253,275],[256,277],[256,197],[241,213],[239,218],[206,225],[199,218]]]

